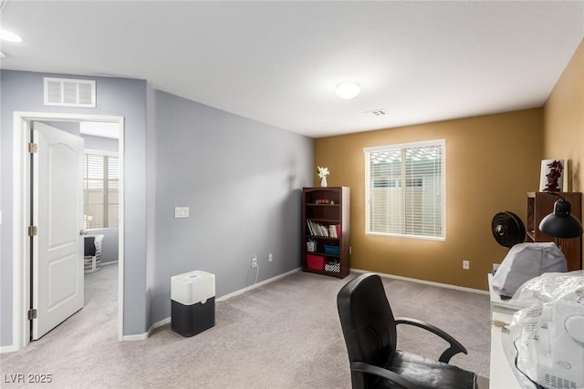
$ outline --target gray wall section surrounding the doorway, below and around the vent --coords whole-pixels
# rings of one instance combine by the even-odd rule
[[[43,77],[95,79],[97,107],[45,107]],[[0,71],[2,167],[0,169],[0,345],[12,344],[13,301],[13,112],[66,112],[114,115],[125,118],[125,334],[144,333],[146,317],[146,87],[144,80],[108,77],[76,77],[14,70]]]

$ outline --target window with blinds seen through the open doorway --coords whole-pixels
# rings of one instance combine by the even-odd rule
[[[83,220],[86,229],[118,227],[120,159],[83,155]]]

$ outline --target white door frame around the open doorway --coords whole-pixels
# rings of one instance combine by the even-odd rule
[[[26,151],[30,141],[31,121],[101,121],[118,123],[120,138],[120,222],[118,227],[118,340],[123,338],[124,312],[124,118],[120,116],[81,115],[47,112],[14,112],[13,149],[13,344],[16,350],[30,343],[30,325],[26,318],[30,305],[30,242],[26,228],[30,220],[30,158]]]

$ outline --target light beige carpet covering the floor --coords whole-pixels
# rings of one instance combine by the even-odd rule
[[[81,312],[26,349],[0,355],[2,374],[52,374],[47,387],[58,388],[349,388],[336,295],[355,275],[338,280],[297,272],[217,302],[214,328],[191,338],[167,324],[148,340],[120,343],[117,266],[105,266],[86,276]],[[451,362],[488,376],[487,295],[383,282],[396,316],[451,333],[468,349]],[[433,335],[406,330],[400,330],[402,349],[434,358],[443,351],[445,343]]]

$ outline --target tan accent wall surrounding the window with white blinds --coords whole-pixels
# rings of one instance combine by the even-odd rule
[[[493,238],[491,220],[510,210],[526,221],[527,192],[539,185],[543,122],[536,108],[315,139],[315,165],[330,170],[328,185],[351,190],[351,268],[486,290],[486,273],[507,252]],[[363,148],[440,138],[446,240],[366,235]],[[320,185],[316,167],[314,184]],[[463,260],[471,261],[469,271]]]

